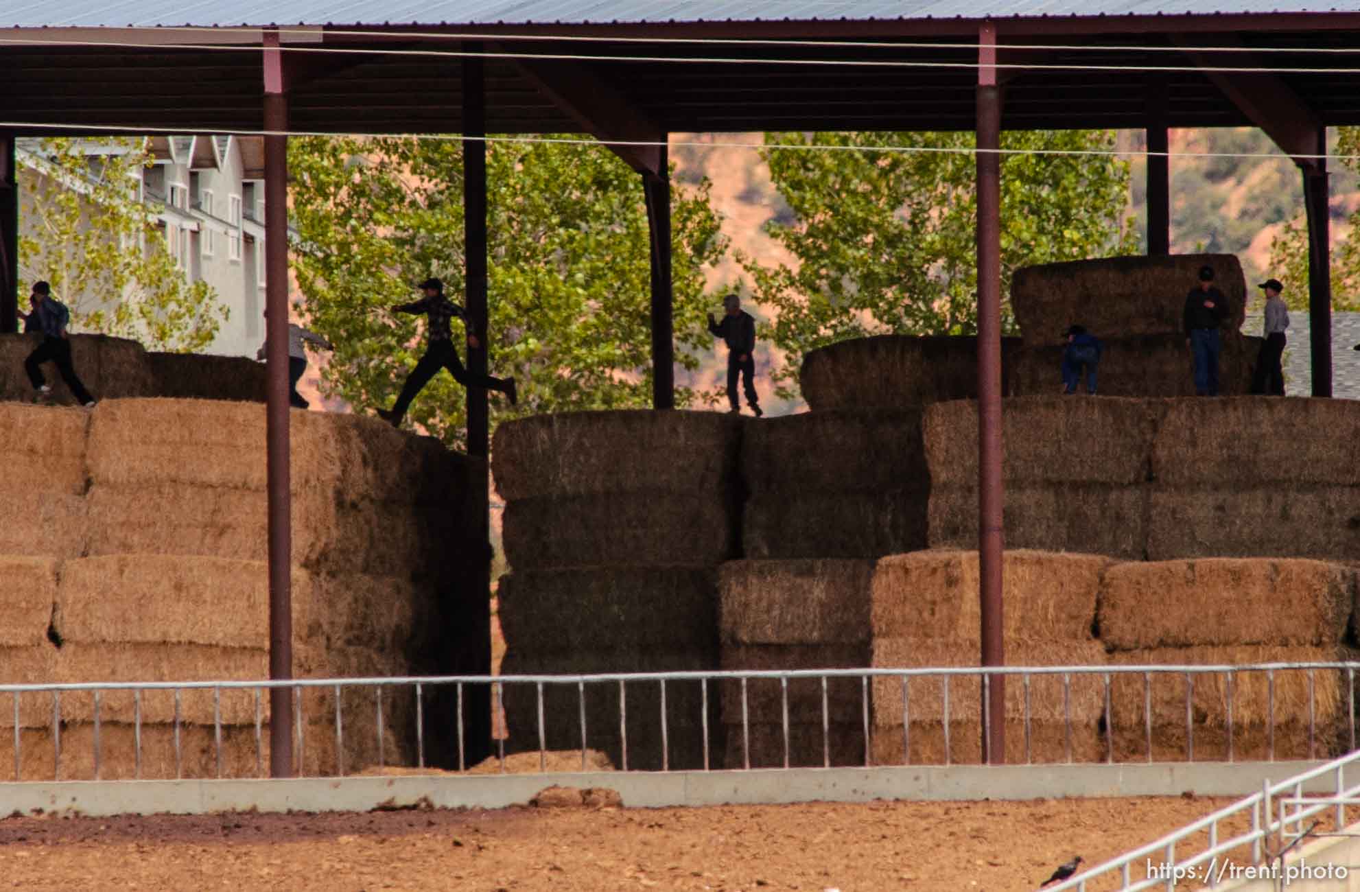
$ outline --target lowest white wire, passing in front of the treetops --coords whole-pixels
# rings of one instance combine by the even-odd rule
[[[288,136],[288,137],[326,137],[326,139],[403,139],[403,140],[438,140],[462,143],[522,143],[522,144],[549,144],[549,145],[596,145],[608,148],[609,145],[628,147],[685,147],[685,148],[743,148],[758,151],[792,151],[792,152],[884,152],[884,154],[938,154],[938,155],[1054,155],[1054,156],[1092,156],[1092,158],[1261,158],[1273,160],[1293,159],[1326,159],[1326,160],[1360,160],[1360,155],[1315,154],[1315,155],[1285,155],[1282,152],[1153,152],[1148,150],[1103,150],[1103,148],[997,148],[979,150],[971,145],[827,145],[827,144],[778,144],[778,143],[738,143],[738,141],[704,141],[704,140],[598,140],[590,136],[464,136],[461,133],[330,133],[325,131],[264,131],[264,129],[222,129],[222,128],[170,128],[170,126],[128,126],[120,124],[63,124],[50,121],[0,121],[0,131],[73,131],[78,133],[118,133],[131,136],[165,135],[165,136]]]

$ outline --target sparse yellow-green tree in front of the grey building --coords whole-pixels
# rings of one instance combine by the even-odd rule
[[[194,352],[228,310],[211,286],[185,279],[155,208],[139,201],[151,163],[141,139],[42,140],[33,166],[20,167],[19,277],[52,283],[75,330]]]

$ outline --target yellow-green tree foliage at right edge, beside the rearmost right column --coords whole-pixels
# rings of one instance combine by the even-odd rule
[[[1342,165],[1360,173],[1360,126],[1337,128],[1331,151],[1346,155]],[[1302,189],[1302,185],[1299,186]],[[1331,307],[1355,313],[1360,310],[1360,211],[1346,220],[1348,231],[1331,249]],[[1270,272],[1284,284],[1285,303],[1291,310],[1308,310],[1308,222],[1296,216],[1287,222],[1270,242]],[[1253,283],[1254,284],[1254,283]],[[1251,290],[1254,291],[1254,290]],[[1259,292],[1254,294],[1259,299]]]

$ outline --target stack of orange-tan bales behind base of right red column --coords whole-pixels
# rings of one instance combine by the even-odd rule
[[[1006,664],[1104,665],[1104,647],[1095,639],[1093,625],[1100,578],[1108,566],[1107,558],[1095,555],[1005,552]],[[978,665],[978,553],[926,551],[880,560],[873,577],[872,619],[874,668]],[[1005,687],[1006,760],[1024,761],[1024,684],[1012,676]],[[874,763],[945,761],[942,676],[914,677],[906,688],[900,677],[874,679]],[[1062,677],[1034,676],[1028,699],[1030,757],[1065,761],[1069,737]],[[978,676],[949,680],[948,761],[981,760],[981,700]],[[1072,760],[1092,761],[1102,752],[1103,684],[1091,676],[1072,677],[1069,706]]]

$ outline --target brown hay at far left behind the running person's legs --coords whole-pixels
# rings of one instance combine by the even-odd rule
[[[0,400],[33,401],[33,386],[23,371],[23,360],[41,343],[41,334],[0,334],[0,364],[10,370],[0,378]],[[95,400],[154,393],[147,354],[137,341],[107,334],[72,334],[71,362]],[[42,377],[52,385],[52,402],[75,405],[76,400],[61,381],[56,364],[45,363]]]

